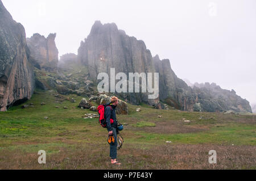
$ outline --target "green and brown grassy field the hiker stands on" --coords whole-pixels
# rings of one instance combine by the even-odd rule
[[[77,108],[81,96],[56,94],[36,91],[24,103],[32,106],[0,112],[0,169],[256,169],[256,115],[155,110],[144,104],[136,112],[138,106],[129,104],[129,115],[117,115],[127,125],[118,150],[122,165],[114,166],[106,129],[98,119],[82,118],[95,112]],[[46,164],[38,163],[39,150],[46,151]],[[216,164],[209,164],[209,150],[217,151]]]

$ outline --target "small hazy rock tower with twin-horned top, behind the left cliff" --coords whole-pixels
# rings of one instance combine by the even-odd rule
[[[56,33],[50,33],[44,37],[35,33],[27,38],[27,45],[30,50],[30,60],[38,69],[56,71],[59,61],[59,51],[55,44]]]

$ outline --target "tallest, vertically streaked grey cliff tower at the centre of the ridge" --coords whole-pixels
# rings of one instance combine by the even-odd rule
[[[77,57],[82,64],[88,66],[89,76],[95,82],[99,73],[110,75],[110,68],[115,68],[115,74],[122,72],[127,77],[129,73],[155,72],[150,50],[146,49],[144,42],[127,36],[114,23],[101,24],[96,21],[89,36],[81,42]],[[148,93],[119,95],[133,104],[146,102],[154,105],[159,100],[148,99]]]

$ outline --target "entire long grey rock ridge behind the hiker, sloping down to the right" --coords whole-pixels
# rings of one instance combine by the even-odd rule
[[[220,87],[190,87],[178,78],[171,69],[168,59],[160,60],[151,56],[150,50],[142,40],[127,36],[118,30],[114,23],[101,24],[96,21],[89,36],[81,41],[77,59],[88,66],[89,77],[97,82],[99,73],[108,73],[115,68],[115,74],[159,73],[159,98],[147,99],[147,93],[119,93],[127,102],[139,104],[145,102],[162,108],[159,99],[171,107],[184,111],[224,111],[251,112],[249,102],[236,95],[234,91]],[[116,83],[116,82],[115,82]]]

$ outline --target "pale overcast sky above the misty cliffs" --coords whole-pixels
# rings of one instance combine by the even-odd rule
[[[215,82],[256,104],[255,0],[2,0],[27,37],[56,32],[59,56],[76,53],[95,20],[116,23],[168,58],[177,77]]]

